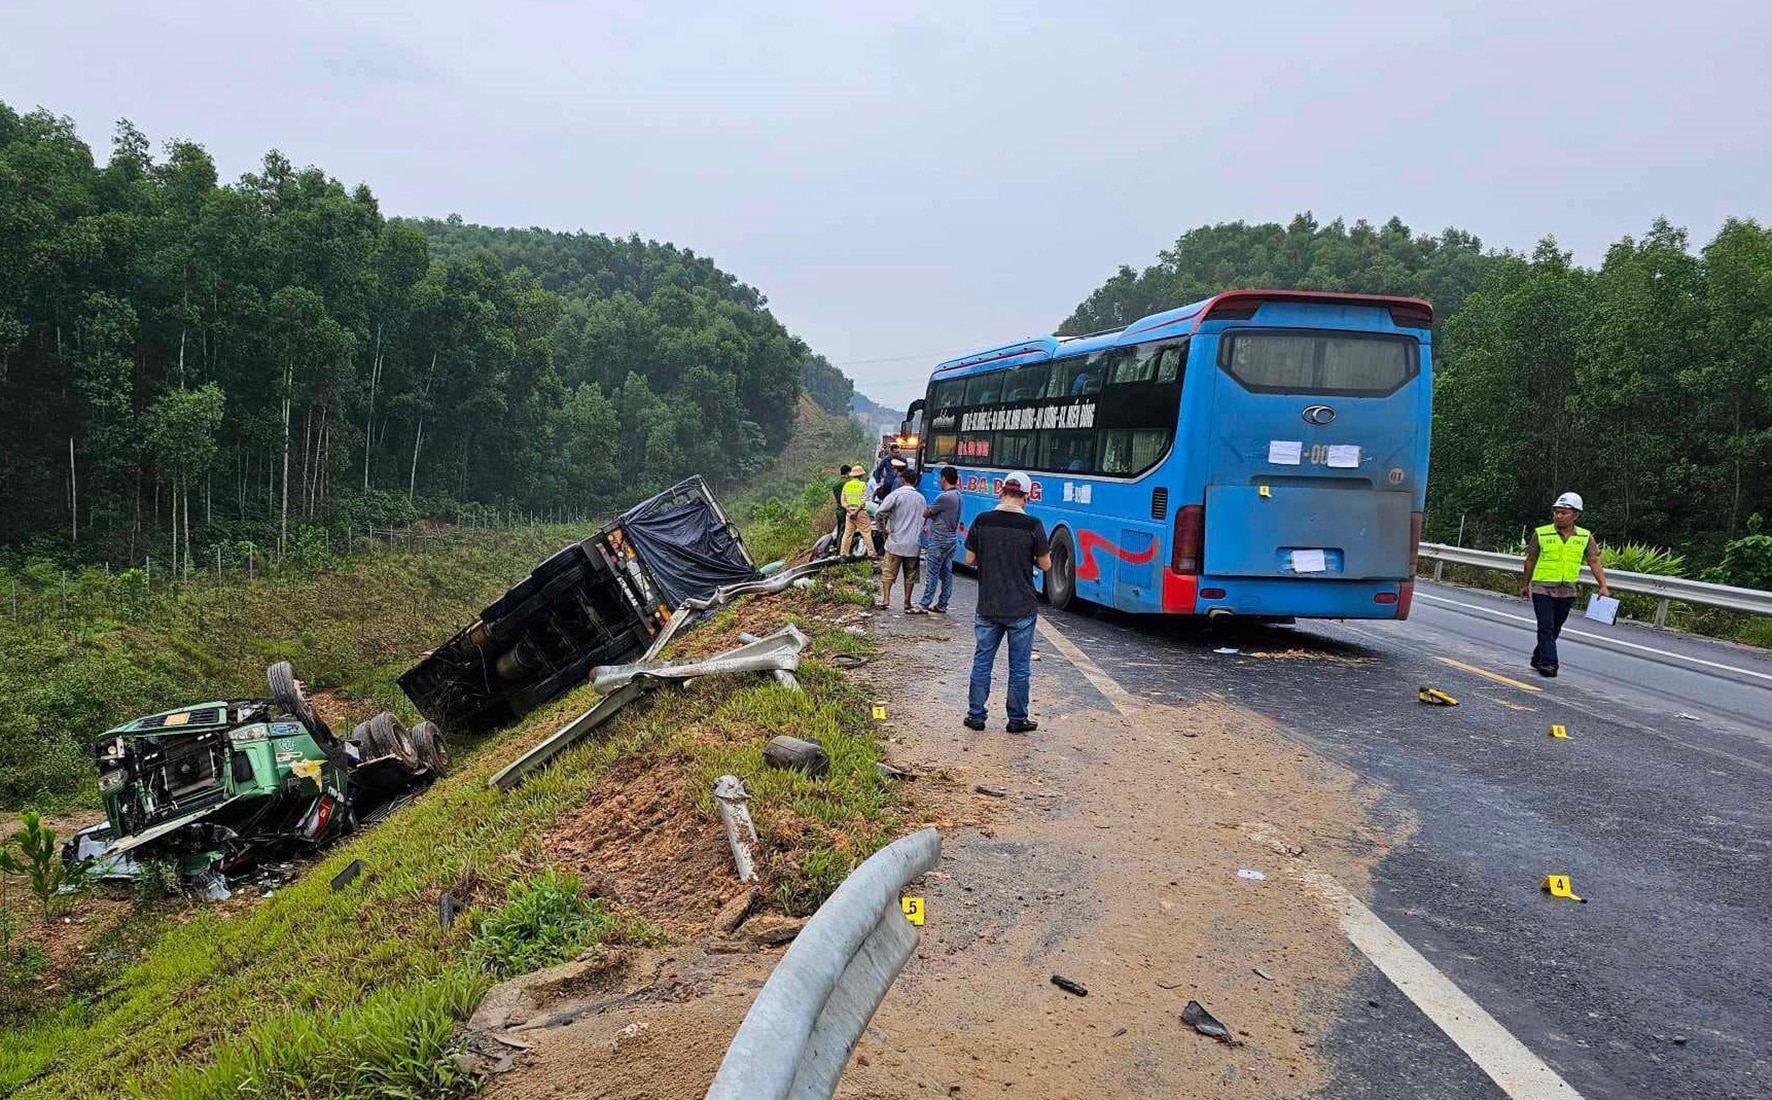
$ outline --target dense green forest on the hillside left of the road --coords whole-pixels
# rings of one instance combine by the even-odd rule
[[[0,547],[140,562],[340,514],[606,510],[778,452],[849,379],[641,241],[385,218],[278,152],[0,105]]]

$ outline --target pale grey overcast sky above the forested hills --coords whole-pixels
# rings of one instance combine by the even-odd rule
[[[891,404],[1207,221],[1772,216],[1765,0],[16,4],[0,99],[714,257]],[[1453,7],[1453,5],[1444,5]]]

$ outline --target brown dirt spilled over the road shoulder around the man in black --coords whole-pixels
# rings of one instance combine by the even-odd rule
[[[1304,856],[1356,895],[1407,822],[1377,792],[1235,707],[1122,714],[1042,636],[1031,735],[960,726],[969,616],[877,615],[861,670],[886,737],[943,827],[916,957],[856,1047],[838,1096],[1302,1096],[1356,957],[1283,873]],[[998,691],[1001,693],[1001,664]],[[980,794],[976,788],[987,788]],[[730,871],[727,871],[730,875]],[[530,1049],[493,1096],[696,1096],[780,948],[714,935],[578,964],[588,985],[503,990],[480,1027]],[[1051,981],[1081,983],[1086,995]],[[544,983],[546,985],[546,983]],[[1180,1019],[1200,1001],[1235,1045]],[[512,1008],[516,1006],[516,1008]],[[542,1024],[542,1026],[537,1026]]]

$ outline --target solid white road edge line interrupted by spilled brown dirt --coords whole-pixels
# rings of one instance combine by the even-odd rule
[[[1040,616],[1038,625],[1040,634],[1053,643],[1053,648],[1108,696],[1115,710],[1131,716],[1139,709],[1138,698],[1090,661],[1090,655],[1065,638],[1051,618]],[[1512,1100],[1581,1100],[1581,1093],[1570,1088],[1556,1070],[1533,1054],[1526,1043],[1513,1038],[1451,978],[1439,972],[1432,962],[1411,948],[1409,941],[1396,935],[1389,925],[1379,919],[1379,914],[1366,909],[1359,898],[1324,871],[1313,870],[1304,861],[1294,861],[1294,864],[1301,868],[1299,873],[1306,886],[1317,891],[1340,918],[1341,932],[1359,948],[1359,953],[1379,967],[1379,972],[1389,978],[1391,985],[1421,1010],[1421,1015],[1434,1020],[1446,1033],[1446,1038],[1457,1043],[1496,1082],[1496,1088]]]

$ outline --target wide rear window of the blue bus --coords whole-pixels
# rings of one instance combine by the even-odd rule
[[[1416,376],[1409,337],[1237,331],[1221,338],[1219,365],[1256,393],[1382,397]]]

